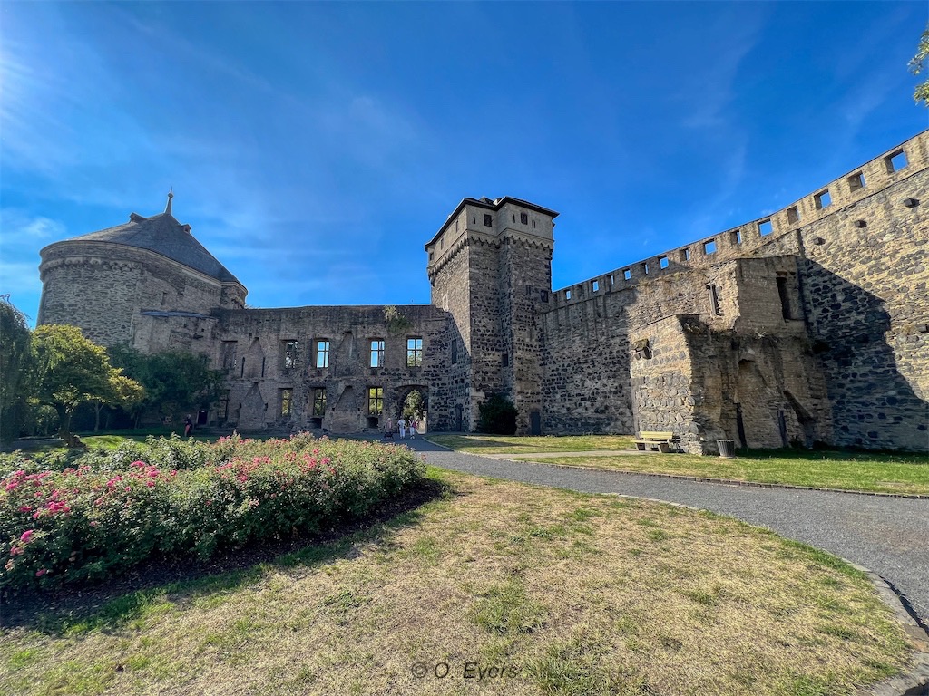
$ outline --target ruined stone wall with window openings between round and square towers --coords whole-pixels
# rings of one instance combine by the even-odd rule
[[[252,309],[218,313],[212,351],[223,367],[224,352],[235,342],[229,366],[227,422],[242,429],[313,428],[315,390],[326,390],[326,412],[319,424],[331,432],[386,428],[396,423],[412,389],[427,399],[430,430],[451,429],[448,405],[455,378],[448,370],[453,335],[447,313],[429,305],[399,306],[409,323],[397,331],[386,321],[384,306]],[[407,366],[407,339],[423,339],[423,365]],[[371,341],[385,343],[383,367],[371,367]],[[329,366],[316,367],[316,342],[330,342]],[[297,342],[293,367],[287,367],[287,342]],[[230,352],[231,354],[231,352]],[[242,365],[242,358],[245,363]],[[458,385],[460,386],[460,385]],[[369,421],[368,389],[381,387],[383,416]],[[281,414],[281,390],[291,390],[291,413]]]

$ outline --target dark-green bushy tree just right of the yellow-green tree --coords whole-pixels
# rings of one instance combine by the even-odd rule
[[[200,355],[175,351],[146,355],[126,346],[113,347],[110,354],[114,365],[145,387],[137,411],[151,409],[178,419],[209,406],[222,391],[223,373],[208,367]]]

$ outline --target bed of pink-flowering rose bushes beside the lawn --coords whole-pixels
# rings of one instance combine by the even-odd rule
[[[150,438],[63,471],[24,462],[0,481],[0,588],[99,580],[158,554],[206,560],[312,534],[363,517],[424,472],[404,447],[308,435]]]

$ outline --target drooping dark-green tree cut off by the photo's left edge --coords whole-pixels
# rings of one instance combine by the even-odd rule
[[[19,435],[24,419],[32,332],[26,316],[0,296],[0,442],[7,443]]]

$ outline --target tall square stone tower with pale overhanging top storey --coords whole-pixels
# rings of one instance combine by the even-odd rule
[[[426,245],[432,303],[451,313],[454,424],[473,431],[478,405],[503,394],[517,432],[539,432],[539,312],[552,288],[558,213],[525,200],[464,199]]]

